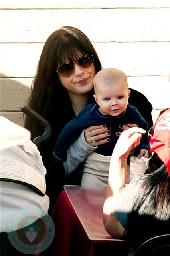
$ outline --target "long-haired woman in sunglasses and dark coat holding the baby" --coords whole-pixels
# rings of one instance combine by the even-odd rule
[[[82,57],[82,58],[81,58]],[[43,116],[52,126],[51,139],[42,144],[40,152],[43,163],[47,168],[46,182],[47,195],[51,199],[51,205],[55,202],[58,193],[63,187],[63,166],[58,166],[53,159],[53,149],[59,133],[70,120],[72,120],[87,104],[94,103],[93,77],[101,70],[99,57],[83,32],[77,28],[63,26],[53,32],[42,50],[38,62],[35,79],[32,83],[32,92],[28,100],[30,108]],[[142,102],[142,115],[146,122],[152,123],[152,105],[146,97],[131,90],[129,102],[134,106],[136,94],[138,102]],[[145,102],[143,104],[143,102]],[[147,109],[143,114],[143,106]],[[25,128],[31,131],[32,139],[43,134],[43,127],[26,116]],[[95,136],[96,143],[92,143]],[[85,130],[85,136],[81,136],[81,162],[90,152],[93,152],[99,144],[107,143],[109,137],[108,128],[92,126]],[[83,142],[82,142],[83,141]],[[80,146],[79,141],[76,142]],[[81,150],[83,150],[81,152]],[[72,157],[72,155],[71,155]],[[72,163],[68,163],[67,167]],[[81,165],[78,166],[73,176],[69,176],[67,184],[80,184]],[[53,202],[52,202],[53,201]]]

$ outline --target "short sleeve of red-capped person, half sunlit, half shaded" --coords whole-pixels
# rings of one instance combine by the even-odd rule
[[[138,177],[127,184],[113,206],[113,212],[125,229],[127,228],[128,216],[132,212],[134,200],[139,189],[139,182],[137,180]]]

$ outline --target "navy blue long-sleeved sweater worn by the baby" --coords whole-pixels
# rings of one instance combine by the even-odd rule
[[[111,135],[109,136],[110,141],[99,145],[95,150],[96,153],[105,156],[111,156],[113,152],[113,148],[119,138],[116,136],[116,132],[122,132],[119,128],[120,124],[137,124],[138,127],[148,131],[146,121],[131,104],[128,104],[125,112],[119,116],[105,116],[99,112],[98,108],[99,105],[94,103],[85,106],[85,108],[63,128],[53,151],[55,160],[65,161],[67,159],[67,150],[71,143],[89,126],[106,124],[106,126],[111,128]],[[147,134],[142,134],[138,148],[145,148],[148,150]]]

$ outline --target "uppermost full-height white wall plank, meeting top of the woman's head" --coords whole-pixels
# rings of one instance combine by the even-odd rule
[[[1,20],[1,42],[45,42],[65,25],[92,42],[170,41],[170,9],[1,10]]]

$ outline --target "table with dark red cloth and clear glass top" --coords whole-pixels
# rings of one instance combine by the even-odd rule
[[[127,255],[125,242],[105,231],[104,199],[102,187],[64,186],[51,214],[56,228],[51,256]]]

